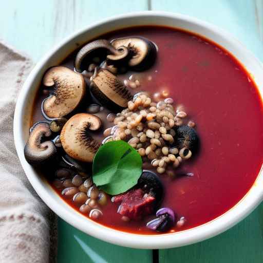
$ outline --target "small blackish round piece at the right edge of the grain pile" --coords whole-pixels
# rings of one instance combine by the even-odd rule
[[[186,148],[192,152],[197,151],[199,146],[199,138],[196,130],[188,125],[180,126],[176,130],[175,143],[178,149]],[[187,155],[187,153],[186,153]]]

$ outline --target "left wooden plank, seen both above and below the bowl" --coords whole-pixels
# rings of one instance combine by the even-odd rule
[[[103,18],[147,10],[146,0],[19,1],[0,9],[0,39],[37,62],[65,36]],[[152,250],[126,249],[92,238],[59,219],[58,262],[152,262]]]

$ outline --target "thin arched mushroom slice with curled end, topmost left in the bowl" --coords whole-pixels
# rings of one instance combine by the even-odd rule
[[[98,62],[101,62],[108,54],[111,61],[122,61],[128,53],[126,47],[114,48],[107,40],[95,40],[80,49],[75,59],[75,70],[81,73],[94,63],[94,58],[99,58]]]

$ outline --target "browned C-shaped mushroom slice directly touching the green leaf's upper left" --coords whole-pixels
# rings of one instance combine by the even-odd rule
[[[71,117],[60,135],[64,151],[73,159],[92,162],[100,143],[92,138],[89,131],[100,127],[101,120],[96,115],[81,113]]]

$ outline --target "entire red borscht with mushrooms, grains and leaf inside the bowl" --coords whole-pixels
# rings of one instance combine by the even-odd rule
[[[44,73],[24,153],[87,220],[174,233],[248,193],[262,165],[262,113],[252,76],[216,43],[126,28]]]

